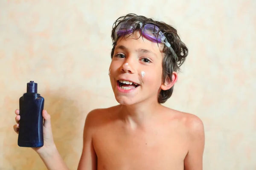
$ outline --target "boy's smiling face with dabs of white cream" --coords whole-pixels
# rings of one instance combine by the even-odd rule
[[[139,37],[140,32],[135,31],[119,38],[109,68],[116,101],[122,105],[157,102],[162,84],[163,45]]]

